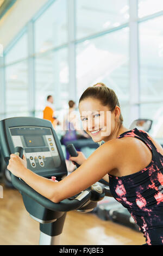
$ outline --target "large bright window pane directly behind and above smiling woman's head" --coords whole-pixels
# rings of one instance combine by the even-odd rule
[[[123,112],[123,106],[129,101],[128,48],[128,28],[78,44],[78,98],[87,87],[103,82],[115,90],[122,103]],[[128,118],[128,115],[125,118]]]

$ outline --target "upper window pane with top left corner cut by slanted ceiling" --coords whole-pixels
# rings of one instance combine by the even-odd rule
[[[54,3],[35,22],[35,52],[67,42],[67,0]]]

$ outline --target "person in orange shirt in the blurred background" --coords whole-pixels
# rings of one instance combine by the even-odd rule
[[[47,96],[47,103],[46,103],[46,107],[43,110],[43,119],[49,120],[52,122],[53,127],[55,129],[55,127],[57,125],[59,125],[59,121],[57,120],[57,118],[54,115],[54,100],[53,100],[53,96],[52,95],[48,95]]]

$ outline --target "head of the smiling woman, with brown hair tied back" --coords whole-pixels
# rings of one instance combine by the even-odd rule
[[[95,109],[101,110],[95,111]],[[123,124],[117,95],[114,90],[106,87],[103,83],[97,83],[85,90],[79,100],[79,111],[82,113],[81,119],[84,130],[95,142],[106,142],[110,139],[109,136],[113,131],[115,121],[118,129]]]

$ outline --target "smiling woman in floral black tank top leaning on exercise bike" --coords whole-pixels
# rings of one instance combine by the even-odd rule
[[[86,190],[107,175],[112,196],[128,209],[146,237],[147,244],[162,245],[161,145],[147,132],[136,128],[128,131],[123,126],[117,96],[104,84],[98,83],[83,93],[79,101],[79,111],[85,122],[85,131],[93,141],[105,143],[88,159],[81,154],[71,157],[71,161],[81,164],[77,170],[65,179],[53,182],[27,169],[26,159],[22,160],[16,155],[11,155],[8,169],[54,203]]]

